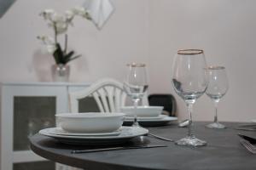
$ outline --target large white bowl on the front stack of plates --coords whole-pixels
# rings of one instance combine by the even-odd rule
[[[55,115],[61,128],[70,133],[111,133],[122,126],[124,113],[62,113]]]

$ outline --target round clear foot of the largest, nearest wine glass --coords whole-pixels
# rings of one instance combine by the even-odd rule
[[[183,146],[204,146],[207,145],[207,142],[201,139],[195,138],[194,135],[187,136],[183,139],[179,139],[175,142],[177,145],[183,145]]]

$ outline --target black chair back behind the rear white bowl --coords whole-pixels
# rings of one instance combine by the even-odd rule
[[[148,104],[154,106],[164,106],[164,114],[176,116],[176,99],[172,94],[149,94]]]

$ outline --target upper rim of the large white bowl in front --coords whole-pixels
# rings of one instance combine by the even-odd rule
[[[59,114],[55,114],[55,116],[60,118],[107,118],[107,117],[125,116],[125,113],[121,113],[121,112],[59,113]]]

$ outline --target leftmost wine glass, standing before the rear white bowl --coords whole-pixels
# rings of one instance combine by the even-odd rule
[[[133,127],[139,127],[137,122],[137,105],[143,99],[143,95],[148,89],[147,71],[144,64],[128,64],[128,72],[125,77],[124,89],[128,96],[131,97],[134,105],[134,122]]]

